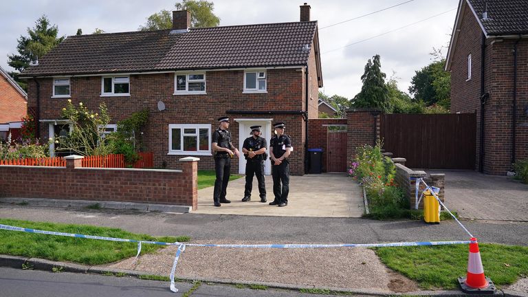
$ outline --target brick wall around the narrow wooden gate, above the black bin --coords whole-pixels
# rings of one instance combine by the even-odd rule
[[[322,172],[327,172],[328,126],[347,125],[347,119],[310,119],[308,121],[308,148],[322,148]]]

